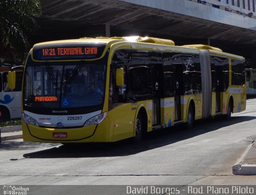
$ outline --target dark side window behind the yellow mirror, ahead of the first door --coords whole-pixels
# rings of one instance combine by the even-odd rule
[[[117,50],[112,58],[112,76],[115,67],[124,69],[124,85],[113,89],[114,101],[138,101],[152,96],[148,51]]]

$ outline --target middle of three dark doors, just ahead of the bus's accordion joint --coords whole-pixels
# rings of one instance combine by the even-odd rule
[[[182,64],[173,64],[174,75],[174,122],[181,121],[181,96],[183,92]]]

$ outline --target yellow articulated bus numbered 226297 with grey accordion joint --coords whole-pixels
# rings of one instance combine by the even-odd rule
[[[44,42],[24,67],[24,141],[140,141],[149,131],[191,128],[245,108],[244,58],[210,46],[148,37]]]

